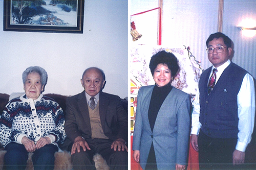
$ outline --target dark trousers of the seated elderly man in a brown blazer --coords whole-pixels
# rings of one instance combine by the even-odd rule
[[[75,153],[71,156],[74,170],[77,169],[93,169],[95,170],[93,156],[100,154],[106,163],[110,166],[110,169],[125,170],[128,169],[128,153],[125,151],[114,151],[111,149],[112,140],[109,139],[86,139],[91,150],[83,151],[80,148],[79,153]]]

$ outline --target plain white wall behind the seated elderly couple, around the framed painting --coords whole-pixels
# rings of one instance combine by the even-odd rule
[[[0,93],[23,90],[22,72],[38,65],[48,72],[44,93],[74,95],[83,90],[87,67],[104,70],[103,91],[128,96],[127,1],[85,1],[83,34],[4,32],[0,0]]]

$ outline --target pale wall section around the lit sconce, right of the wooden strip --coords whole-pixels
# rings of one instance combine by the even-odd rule
[[[232,61],[256,78],[256,36],[246,37],[238,29],[240,22],[246,18],[256,21],[256,1],[224,1],[223,33],[234,43],[234,57]],[[256,27],[256,26],[254,26]]]

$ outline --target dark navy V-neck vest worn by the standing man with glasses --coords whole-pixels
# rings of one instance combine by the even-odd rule
[[[208,95],[210,72],[211,67],[202,73],[199,81],[201,131],[212,138],[237,138],[237,95],[247,71],[231,62]]]

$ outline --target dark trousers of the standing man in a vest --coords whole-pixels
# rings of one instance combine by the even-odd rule
[[[233,152],[237,138],[211,138],[200,132],[198,137],[199,167],[205,169],[239,169],[233,166]]]

